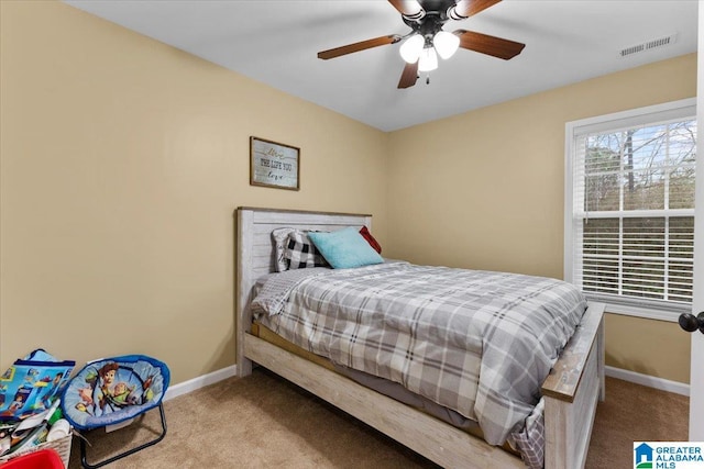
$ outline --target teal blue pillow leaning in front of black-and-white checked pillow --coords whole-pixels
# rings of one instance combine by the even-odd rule
[[[333,269],[350,269],[384,261],[354,227],[330,233],[309,232],[308,237]]]

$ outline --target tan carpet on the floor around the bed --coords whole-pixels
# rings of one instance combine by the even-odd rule
[[[437,468],[424,457],[271,375],[229,379],[164,404],[168,433],[160,444],[107,468]],[[607,378],[587,468],[632,467],[634,440],[685,440],[689,400]],[[158,411],[106,434],[87,436],[95,462],[153,438]],[[74,438],[69,469],[79,469]]]

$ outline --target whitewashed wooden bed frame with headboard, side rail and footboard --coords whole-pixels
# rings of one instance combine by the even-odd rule
[[[399,403],[250,334],[251,291],[274,269],[274,228],[333,231],[366,225],[349,213],[239,208],[237,216],[238,375],[256,362],[446,468],[525,468],[520,458],[421,411]],[[542,386],[546,469],[583,468],[596,412],[604,400],[604,305],[590,303],[582,324]]]

